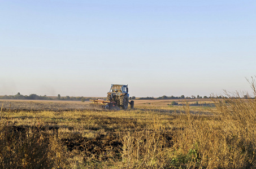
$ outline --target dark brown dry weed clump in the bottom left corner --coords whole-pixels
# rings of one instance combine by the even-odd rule
[[[37,128],[0,126],[0,168],[66,167],[63,146]]]

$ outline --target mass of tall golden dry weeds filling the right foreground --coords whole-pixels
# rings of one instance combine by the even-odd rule
[[[175,152],[171,166],[176,168],[255,168],[256,167],[256,99],[255,81],[251,83],[253,99],[244,94],[225,91],[224,99],[213,99],[212,117],[181,115],[176,130]],[[248,94],[247,94],[248,95]],[[223,97],[223,96],[222,96]]]

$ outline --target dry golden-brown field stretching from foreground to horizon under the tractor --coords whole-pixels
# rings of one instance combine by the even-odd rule
[[[177,105],[171,105],[176,101]],[[255,168],[255,99],[0,100],[1,168]]]

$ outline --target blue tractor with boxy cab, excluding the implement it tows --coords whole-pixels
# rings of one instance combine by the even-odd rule
[[[107,101],[115,102],[122,109],[127,109],[129,104],[132,109],[134,107],[134,101],[129,102],[128,85],[124,84],[111,84],[110,91],[107,92]]]

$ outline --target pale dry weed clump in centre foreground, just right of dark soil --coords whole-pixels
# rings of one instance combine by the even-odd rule
[[[166,154],[172,148],[171,135],[158,120],[145,130],[120,134],[122,140],[121,168],[163,168]]]

